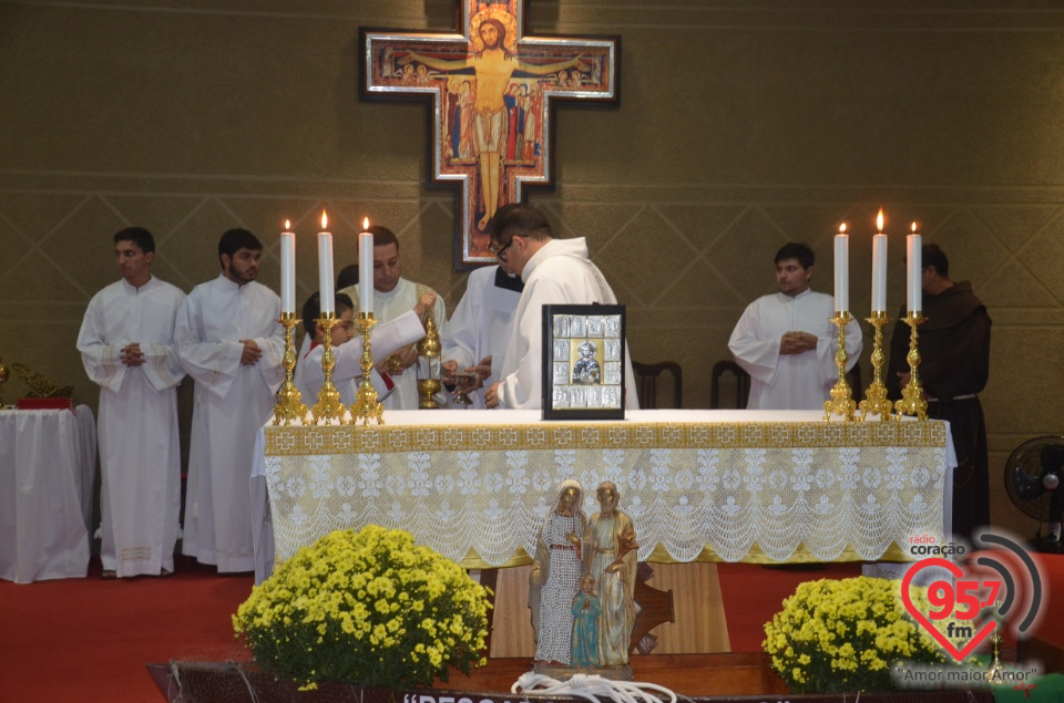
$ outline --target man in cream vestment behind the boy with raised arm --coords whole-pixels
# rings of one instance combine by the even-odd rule
[[[402,257],[399,255],[399,239],[387,227],[371,226],[367,231],[374,235],[374,313],[381,322],[395,320],[409,312],[427,292],[434,292],[423,283],[402,278]],[[350,296],[355,307],[359,307],[358,287],[352,286],[339,291]],[[432,306],[432,318],[437,331],[443,334],[447,329],[447,309],[443,299],[437,297]],[[419,340],[420,341],[420,340]],[[382,401],[385,410],[418,410],[418,350],[417,344],[408,344],[388,358],[387,370],[396,382],[396,391]],[[447,403],[446,393],[437,396],[437,402]]]

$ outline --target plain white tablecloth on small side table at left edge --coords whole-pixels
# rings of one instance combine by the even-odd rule
[[[0,578],[88,573],[95,465],[88,405],[0,411]]]

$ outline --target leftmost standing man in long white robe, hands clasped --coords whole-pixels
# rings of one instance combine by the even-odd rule
[[[103,578],[168,576],[181,510],[174,321],[185,293],[152,276],[155,240],[141,227],[114,235],[122,280],[89,302],[78,351],[100,385]]]

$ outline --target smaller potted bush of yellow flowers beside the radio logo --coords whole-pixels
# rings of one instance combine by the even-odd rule
[[[901,602],[900,581],[858,577],[807,581],[765,626],[765,651],[792,693],[893,691],[900,661],[942,664],[941,648]],[[927,612],[925,591],[913,589]],[[922,603],[922,604],[921,604]]]

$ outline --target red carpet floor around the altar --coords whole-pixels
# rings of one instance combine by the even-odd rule
[[[1064,645],[1064,556],[1043,557],[1047,618],[1039,631]],[[759,651],[764,624],[801,581],[847,578],[856,564],[821,570],[720,565],[733,651]],[[231,617],[252,588],[248,576],[178,570],[166,579],[88,579],[16,585],[0,580],[0,702],[158,703],[145,669],[153,662],[247,660]]]

